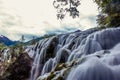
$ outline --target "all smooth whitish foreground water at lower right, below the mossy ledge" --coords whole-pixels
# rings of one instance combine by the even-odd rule
[[[118,48],[120,44],[102,58],[92,55],[77,68],[73,68],[67,80],[120,80],[120,50]]]

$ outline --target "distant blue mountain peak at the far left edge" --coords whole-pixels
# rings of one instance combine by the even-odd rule
[[[0,43],[4,43],[5,45],[10,46],[10,45],[16,44],[17,41],[12,41],[3,35],[0,35]]]

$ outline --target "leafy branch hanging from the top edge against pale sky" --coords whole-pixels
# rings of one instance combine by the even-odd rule
[[[54,0],[53,6],[57,9],[57,18],[63,19],[67,13],[72,18],[79,17],[77,7],[80,5],[80,0]]]

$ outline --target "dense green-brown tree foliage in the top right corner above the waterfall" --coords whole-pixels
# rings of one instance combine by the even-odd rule
[[[100,27],[120,26],[120,0],[94,0],[99,6],[97,22]]]

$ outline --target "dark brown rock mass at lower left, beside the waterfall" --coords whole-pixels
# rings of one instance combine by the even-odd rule
[[[4,72],[1,80],[27,80],[32,67],[32,59],[22,53]]]

